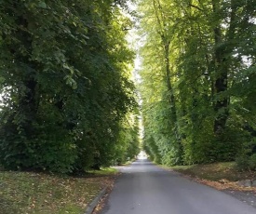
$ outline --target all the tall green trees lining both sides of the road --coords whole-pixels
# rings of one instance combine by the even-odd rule
[[[137,3],[145,151],[255,162],[256,0]],[[126,0],[0,1],[4,167],[66,173],[138,154],[131,14]]]

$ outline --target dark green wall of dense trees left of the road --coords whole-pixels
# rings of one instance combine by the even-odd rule
[[[73,172],[138,153],[123,5],[0,1],[2,165]]]

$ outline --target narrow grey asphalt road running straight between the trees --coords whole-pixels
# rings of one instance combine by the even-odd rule
[[[256,214],[256,209],[178,173],[138,160],[123,174],[101,214]]]

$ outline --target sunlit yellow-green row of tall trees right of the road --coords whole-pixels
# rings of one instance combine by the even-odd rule
[[[255,155],[255,5],[140,1],[143,143],[155,161]]]

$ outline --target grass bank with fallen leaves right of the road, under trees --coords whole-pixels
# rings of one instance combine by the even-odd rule
[[[209,181],[241,181],[248,179],[256,179],[256,172],[238,171],[235,162],[214,163],[208,165],[192,165],[168,167],[179,171],[182,174],[205,179]]]

